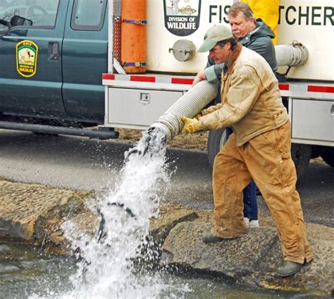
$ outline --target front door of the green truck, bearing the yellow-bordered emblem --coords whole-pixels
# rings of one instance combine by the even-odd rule
[[[68,0],[0,2],[0,113],[65,114],[61,49]]]

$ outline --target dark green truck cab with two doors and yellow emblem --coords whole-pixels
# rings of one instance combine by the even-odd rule
[[[0,128],[103,124],[107,46],[106,0],[1,0]]]

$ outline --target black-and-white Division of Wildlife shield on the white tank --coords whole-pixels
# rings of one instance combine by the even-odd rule
[[[163,0],[163,8],[165,27],[173,35],[184,37],[198,29],[201,0]]]

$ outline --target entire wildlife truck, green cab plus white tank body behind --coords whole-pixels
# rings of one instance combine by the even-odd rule
[[[228,26],[232,4],[2,2],[0,128],[96,138],[117,138],[115,128],[146,130],[190,90],[206,65],[197,53],[204,33]],[[311,158],[334,166],[334,6],[280,0],[279,11],[279,87],[301,178]],[[224,142],[225,130],[209,133],[211,164]]]

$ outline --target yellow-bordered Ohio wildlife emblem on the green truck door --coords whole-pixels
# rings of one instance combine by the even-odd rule
[[[16,68],[23,77],[32,77],[37,70],[38,47],[35,42],[23,40],[16,44]]]

